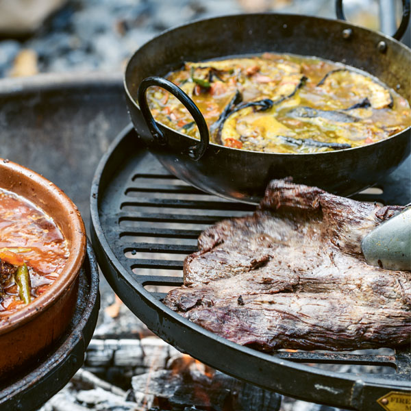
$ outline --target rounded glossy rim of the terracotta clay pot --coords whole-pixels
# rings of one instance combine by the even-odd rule
[[[60,208],[65,211],[67,219],[70,222],[70,227],[73,235],[73,238],[71,240],[69,258],[67,259],[62,273],[60,274],[58,279],[53,282],[50,290],[47,290],[47,292],[40,295],[40,297],[37,297],[25,308],[22,308],[21,310],[10,314],[10,316],[1,317],[1,323],[3,323],[0,323],[1,336],[3,334],[11,332],[13,329],[21,327],[21,325],[24,325],[28,321],[34,319],[36,316],[42,314],[42,312],[45,312],[49,307],[56,303],[58,299],[60,299],[62,294],[66,292],[68,288],[72,286],[72,284],[75,282],[75,279],[77,279],[77,276],[79,275],[79,271],[86,256],[86,229],[84,227],[82,216],[80,215],[79,210],[77,209],[73,201],[71,201],[71,199],[69,199],[69,197],[67,197],[67,195],[60,188],[58,188],[58,186],[55,186],[55,184],[50,182],[48,179],[42,177],[42,175],[35,173],[30,169],[27,169],[24,166],[21,166],[9,160],[3,160],[1,158],[0,169],[8,169],[8,171],[11,171],[16,175],[25,176],[26,178],[28,177],[33,182],[33,186],[36,188],[36,191],[44,190],[49,192],[53,199],[55,199],[55,202],[59,204]],[[1,185],[1,182],[0,188],[8,190],[8,188],[5,188]],[[22,197],[25,196],[23,195]],[[36,203],[36,201],[34,201],[33,199],[27,200],[32,201],[32,203],[38,206],[41,210],[44,210],[41,204]],[[53,218],[53,215],[50,216],[51,218]],[[59,228],[61,230],[61,227]]]

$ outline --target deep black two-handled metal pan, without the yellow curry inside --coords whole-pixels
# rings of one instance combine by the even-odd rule
[[[341,1],[336,3],[343,18]],[[403,0],[403,21],[394,37],[401,38],[409,17],[410,0]],[[125,71],[127,105],[138,136],[171,173],[206,192],[257,203],[271,179],[288,176],[297,183],[351,195],[375,184],[409,155],[410,127],[371,145],[323,153],[262,153],[216,145],[209,142],[206,121],[195,103],[177,86],[157,77],[179,69],[184,61],[264,51],[343,62],[371,73],[411,100],[411,50],[395,38],[345,21],[240,14],[182,25],[140,47]],[[162,86],[186,105],[201,141],[153,120],[145,96],[149,86]]]

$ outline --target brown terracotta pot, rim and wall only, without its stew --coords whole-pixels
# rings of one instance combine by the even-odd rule
[[[51,288],[25,308],[0,320],[0,379],[34,362],[71,321],[78,275],[86,254],[86,231],[79,211],[60,188],[41,175],[0,159],[0,188],[10,190],[49,214],[66,238],[70,256]]]

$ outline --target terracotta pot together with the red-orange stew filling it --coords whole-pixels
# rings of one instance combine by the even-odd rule
[[[0,159],[0,380],[27,370],[72,320],[86,231],[71,199]]]

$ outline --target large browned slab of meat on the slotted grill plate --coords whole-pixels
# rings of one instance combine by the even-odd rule
[[[411,273],[369,266],[360,245],[401,209],[275,180],[252,216],[201,234],[164,303],[264,351],[409,344]]]

